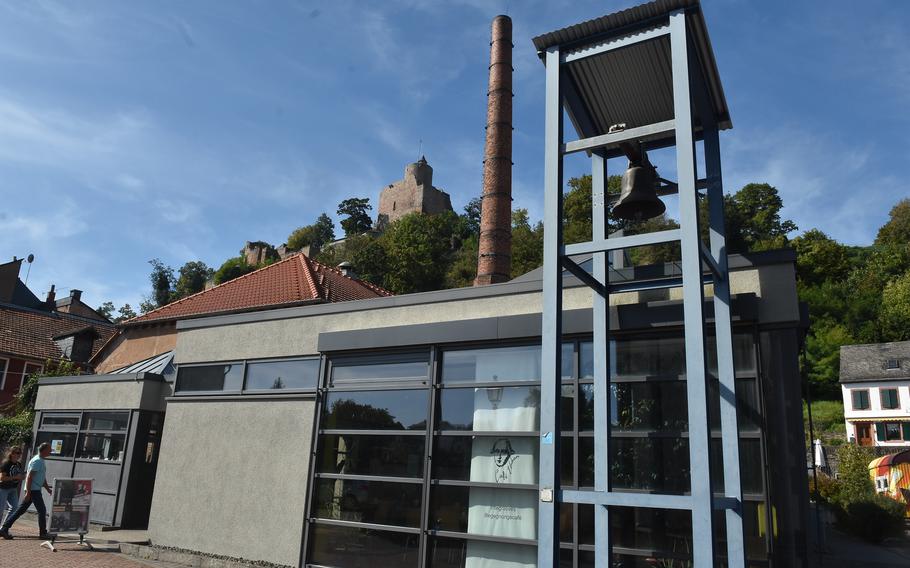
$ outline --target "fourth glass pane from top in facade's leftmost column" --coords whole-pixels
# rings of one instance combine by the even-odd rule
[[[319,479],[313,511],[321,519],[419,527],[422,491],[419,483]]]

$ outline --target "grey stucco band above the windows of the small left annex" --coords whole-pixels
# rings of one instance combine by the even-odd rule
[[[140,408],[142,381],[41,385],[35,399],[38,410],[104,410]]]

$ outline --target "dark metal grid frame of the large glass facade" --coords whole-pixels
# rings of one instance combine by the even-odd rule
[[[740,382],[741,379],[751,379],[751,381],[749,381],[748,384],[750,385],[750,388],[753,389],[754,392],[750,392],[749,394],[754,395],[754,396],[749,397],[749,400],[751,400],[754,403],[755,410],[759,413],[759,417],[756,420],[757,428],[754,431],[740,432],[739,438],[742,441],[745,441],[746,439],[752,439],[752,440],[758,441],[758,451],[759,451],[758,457],[761,461],[760,465],[761,465],[761,469],[762,469],[761,479],[759,480],[759,483],[761,486],[761,492],[760,493],[752,493],[752,492],[744,493],[743,501],[746,503],[753,503],[753,504],[754,503],[767,503],[768,495],[769,495],[768,487],[767,487],[768,479],[764,475],[764,471],[763,471],[767,464],[767,461],[766,461],[767,460],[767,455],[766,455],[767,448],[766,448],[766,441],[765,441],[765,423],[764,423],[765,419],[766,419],[766,415],[765,415],[765,409],[764,409],[765,405],[764,405],[763,391],[762,391],[762,377],[763,377],[763,372],[764,372],[763,365],[762,365],[762,349],[761,349],[761,344],[758,341],[758,339],[759,339],[758,329],[754,324],[737,325],[734,327],[733,331],[734,331],[735,335],[744,335],[744,336],[748,337],[749,345],[750,345],[750,356],[752,357],[751,362],[752,362],[752,367],[753,367],[752,369],[749,369],[749,370],[745,370],[745,369],[739,370],[739,369],[735,368],[734,377],[737,381],[738,386],[740,384],[744,384],[744,383]],[[681,335],[682,333],[683,333],[682,328],[673,327],[673,328],[662,329],[662,330],[658,330],[658,331],[656,331],[656,330],[615,331],[615,332],[611,332],[610,337],[611,337],[611,339],[614,339],[614,340],[626,339],[626,338],[635,338],[635,339],[657,338],[657,339],[660,339],[660,338],[666,338],[667,336],[672,336],[672,335]],[[713,337],[713,335],[712,335],[712,337]],[[564,367],[563,367],[566,370],[571,369],[571,376],[563,377],[562,385],[563,385],[563,387],[571,387],[574,389],[574,392],[572,392],[571,395],[566,395],[566,396],[571,396],[571,400],[574,404],[574,407],[573,407],[574,412],[573,412],[573,416],[572,416],[572,425],[571,425],[572,430],[565,429],[565,428],[569,428],[568,424],[565,425],[565,428],[563,428],[561,425],[560,426],[560,435],[563,436],[563,440],[565,440],[565,443],[571,443],[571,450],[567,451],[567,453],[564,455],[568,459],[569,458],[568,454],[574,454],[572,456],[573,464],[571,467],[572,467],[572,482],[575,484],[572,486],[570,486],[568,484],[564,484],[563,485],[564,488],[578,488],[579,473],[580,473],[579,467],[578,467],[578,454],[579,454],[578,440],[583,437],[593,438],[593,435],[594,435],[593,432],[589,432],[589,433],[579,432],[579,420],[580,420],[579,400],[581,398],[581,392],[579,390],[580,385],[585,384],[585,383],[593,384],[595,382],[593,378],[585,379],[585,378],[579,377],[579,375],[581,374],[581,369],[580,369],[581,344],[584,342],[591,342],[591,339],[592,338],[591,338],[590,333],[583,333],[583,334],[577,334],[577,335],[575,335],[575,334],[566,335],[563,338],[563,344],[571,345],[572,349],[571,349],[571,354],[566,352],[564,355],[564,356],[571,357],[571,359],[570,359],[571,364],[568,364],[564,361]],[[428,381],[426,384],[423,384],[423,382],[421,382],[420,384],[415,384],[414,381],[383,381],[383,382],[352,381],[352,382],[347,382],[347,383],[333,384],[332,378],[331,378],[331,369],[332,369],[332,364],[334,361],[332,359],[332,354],[331,353],[327,354],[325,368],[323,370],[323,375],[322,375],[323,387],[320,388],[320,398],[325,396],[327,393],[333,392],[333,391],[345,391],[345,390],[392,390],[392,391],[395,391],[395,390],[405,390],[405,389],[424,389],[424,388],[428,389],[428,394],[429,394],[428,406],[429,406],[429,408],[427,410],[427,428],[425,430],[426,443],[424,446],[424,452],[425,452],[424,457],[426,459],[426,462],[424,464],[423,478],[422,479],[420,479],[420,478],[395,479],[395,478],[391,478],[388,476],[375,476],[376,481],[385,480],[385,481],[400,481],[400,482],[409,482],[410,481],[410,482],[416,482],[416,483],[422,482],[424,484],[424,491],[425,491],[424,496],[423,496],[423,501],[422,501],[423,517],[421,520],[421,526],[416,529],[412,528],[412,527],[397,527],[397,526],[389,526],[389,525],[381,525],[381,524],[362,523],[362,522],[356,522],[356,521],[336,521],[336,520],[330,520],[330,519],[317,519],[317,518],[314,518],[314,512],[313,512],[314,496],[313,496],[312,491],[308,490],[307,497],[306,497],[306,505],[305,505],[306,506],[305,529],[303,531],[303,542],[302,542],[301,553],[300,553],[301,554],[301,556],[300,556],[301,565],[304,565],[304,566],[309,565],[309,564],[307,564],[307,562],[310,560],[310,558],[311,558],[310,555],[313,552],[312,551],[313,539],[311,538],[311,532],[314,530],[315,527],[317,527],[319,525],[335,525],[335,526],[344,526],[344,527],[351,527],[351,528],[359,527],[359,528],[363,528],[363,529],[383,530],[383,531],[400,532],[400,533],[421,533],[422,532],[420,539],[418,541],[418,554],[422,555],[419,560],[420,566],[424,566],[424,565],[426,565],[427,562],[429,562],[430,547],[432,546],[434,539],[437,539],[437,538],[449,538],[449,539],[456,539],[456,540],[461,540],[461,541],[472,541],[472,540],[487,541],[487,542],[496,542],[496,543],[502,543],[502,544],[521,544],[521,545],[530,545],[530,546],[536,545],[536,540],[533,540],[533,539],[522,539],[522,538],[512,538],[512,537],[503,537],[503,536],[488,536],[488,535],[483,535],[483,534],[461,533],[461,532],[453,532],[453,531],[449,531],[449,530],[434,529],[433,524],[432,524],[432,518],[433,518],[432,512],[433,512],[433,491],[436,488],[441,488],[441,486],[447,486],[447,485],[448,486],[461,486],[461,487],[472,487],[472,486],[485,487],[485,486],[487,486],[487,484],[485,484],[483,482],[446,480],[446,479],[437,478],[437,473],[435,471],[434,465],[435,465],[436,460],[438,459],[437,455],[439,454],[439,450],[437,449],[437,445],[438,445],[439,440],[444,439],[444,438],[491,434],[489,432],[478,432],[478,431],[474,431],[474,430],[471,430],[471,431],[467,431],[467,430],[442,431],[442,430],[439,430],[438,422],[439,422],[440,416],[441,416],[440,403],[442,401],[442,395],[445,392],[444,389],[512,387],[512,386],[514,386],[514,387],[534,387],[534,386],[540,387],[541,386],[540,380],[537,380],[537,381],[496,381],[496,382],[464,381],[464,382],[443,383],[443,381],[442,381],[442,370],[443,370],[442,369],[442,367],[443,367],[442,358],[443,358],[444,353],[446,351],[455,351],[455,350],[484,349],[484,348],[497,348],[497,347],[515,347],[515,346],[523,346],[523,345],[534,346],[534,345],[539,345],[539,344],[540,344],[539,338],[533,337],[533,336],[529,337],[529,338],[525,338],[525,339],[506,340],[506,341],[485,340],[485,341],[463,341],[463,342],[452,342],[452,343],[428,344],[426,346],[426,350],[429,352],[430,371],[429,371],[429,378],[428,378]],[[338,358],[364,357],[364,358],[381,359],[383,357],[401,356],[402,352],[404,352],[404,353],[413,352],[413,349],[410,349],[408,351],[405,351],[404,349],[401,349],[401,350],[374,349],[374,350],[363,350],[360,352],[352,351],[352,352],[346,352],[346,353],[338,353],[337,355],[338,355]],[[685,380],[686,380],[685,374],[683,374],[682,376],[678,376],[678,377],[677,376],[673,376],[673,377],[650,377],[650,376],[639,377],[639,376],[635,376],[635,377],[629,377],[629,378],[631,380],[616,380],[615,377],[613,377],[612,381],[616,382],[616,383],[618,383],[618,382],[634,383],[634,382],[651,382],[651,381],[659,381],[659,380],[685,382]],[[739,389],[737,389],[737,392],[738,391],[739,391]],[[316,428],[314,428],[314,447],[313,447],[314,452],[319,452],[321,450],[321,443],[322,443],[321,435],[323,433],[329,433],[329,431],[323,432],[321,430],[321,427],[322,427],[321,413],[323,411],[322,406],[323,406],[322,404],[318,404],[317,409],[316,409],[317,426],[316,426]],[[333,430],[331,432],[334,433],[336,431]],[[350,432],[350,433],[354,433],[354,432]],[[406,432],[397,431],[397,430],[390,430],[390,431],[358,430],[356,433],[367,434],[367,435],[374,435],[374,434],[401,435]],[[423,433],[424,433],[424,431],[419,431],[419,432],[415,432],[415,435],[419,435],[419,434],[423,434]],[[611,435],[615,436],[617,433],[618,432],[613,431],[613,432],[611,432]],[[497,435],[515,434],[515,435],[533,436],[535,434],[535,432],[515,432],[515,433],[495,432],[495,434],[497,434]],[[536,432],[536,434],[539,436],[539,432]],[[638,433],[634,433],[634,432],[630,433],[630,434],[631,435],[629,435],[628,437],[654,437],[653,435],[649,436],[648,432],[646,432],[646,431],[642,432],[640,434],[640,436],[637,435]],[[681,437],[687,437],[686,433],[680,433],[680,434],[681,434]],[[712,429],[710,435],[711,435],[712,442],[718,442],[720,440],[719,431]],[[623,437],[626,437],[626,436],[623,436]],[[430,456],[432,456],[432,458],[433,458],[432,461],[430,460]],[[351,477],[351,478],[359,478],[362,480],[369,480],[374,477],[374,476],[354,476],[354,475],[350,475],[350,476],[333,475],[333,474],[328,474],[328,473],[318,474],[315,472],[316,461],[317,461],[316,459],[310,460],[310,477],[313,480],[317,480],[319,478],[329,478],[329,477],[331,477],[331,478]],[[514,488],[517,490],[537,489],[537,487],[538,487],[537,485],[526,485],[526,484],[489,484],[489,485],[492,487],[502,487],[503,489],[508,487],[508,488]],[[717,497],[722,496],[722,492],[718,491],[717,489],[715,489],[713,491],[713,493]],[[572,551],[572,557],[575,562],[575,565],[577,566],[577,561],[578,561],[580,554],[589,553],[594,550],[594,547],[593,547],[593,545],[584,545],[584,544],[581,544],[578,542],[578,538],[579,538],[578,537],[578,532],[579,532],[579,520],[578,519],[579,519],[580,505],[571,504],[571,505],[569,505],[569,507],[570,507],[570,510],[565,514],[567,515],[567,518],[572,520],[573,528],[568,529],[568,532],[566,534],[562,535],[562,539],[561,539],[562,542],[560,543],[559,546],[561,549],[566,549],[566,550]],[[766,522],[770,523],[770,516],[769,516],[770,512],[769,511],[770,511],[770,508],[769,507],[766,508],[765,517],[766,517]],[[768,542],[768,540],[770,538],[771,538],[770,535],[764,535],[762,537],[763,542],[766,542],[766,543]],[[628,549],[628,550],[623,549],[622,551],[617,550],[617,552],[622,552],[623,554],[642,556],[642,555],[650,554],[651,551],[645,551],[644,549],[636,548],[636,549]],[[750,562],[753,562],[753,559],[750,558]],[[757,564],[764,564],[767,562],[767,558],[765,558],[764,556],[756,557],[756,559],[754,559],[754,562]]]

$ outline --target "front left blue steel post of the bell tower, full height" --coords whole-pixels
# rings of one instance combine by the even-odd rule
[[[562,398],[563,109],[558,47],[547,50],[544,127],[543,313],[540,381],[540,501],[537,565],[559,565],[560,400]]]

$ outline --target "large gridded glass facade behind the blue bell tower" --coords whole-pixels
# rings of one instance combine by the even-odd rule
[[[681,335],[619,337],[610,351],[612,489],[687,494]],[[592,356],[588,340],[563,346],[567,489],[594,484]],[[306,562],[366,566],[362,555],[369,551],[372,566],[386,565],[382,558],[396,566],[536,566],[540,358],[539,345],[497,345],[371,355],[362,364],[346,357],[331,365],[320,408]],[[766,562],[768,536],[761,527],[769,526],[756,360],[753,335],[736,334],[745,514],[755,517],[745,523],[750,565]],[[709,360],[712,398],[719,396],[715,368]],[[720,492],[718,405],[709,413]],[[561,505],[560,566],[594,566],[593,519],[591,505]],[[610,519],[616,566],[691,562],[688,511],[613,507]]]

